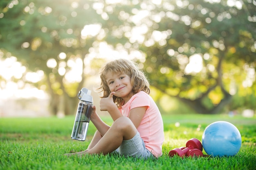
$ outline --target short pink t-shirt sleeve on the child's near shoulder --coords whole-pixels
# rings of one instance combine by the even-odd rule
[[[150,106],[150,98],[148,94],[145,93],[137,93],[133,96],[132,102],[130,104],[130,109],[136,108],[136,107],[144,107]]]

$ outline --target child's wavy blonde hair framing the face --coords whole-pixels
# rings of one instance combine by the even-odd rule
[[[144,91],[147,94],[150,93],[149,82],[144,73],[138,68],[137,63],[127,59],[117,59],[107,63],[100,72],[101,85],[99,87],[100,92],[103,92],[101,98],[106,98],[110,95],[110,89],[106,82],[106,75],[108,73],[126,74],[131,78],[132,91],[130,97],[134,94]],[[113,96],[113,101],[118,107],[121,107],[122,98]]]

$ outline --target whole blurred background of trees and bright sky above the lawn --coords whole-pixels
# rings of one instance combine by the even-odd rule
[[[100,68],[136,61],[162,114],[256,110],[256,0],[1,0],[0,117],[99,112]],[[102,113],[106,114],[106,113]]]

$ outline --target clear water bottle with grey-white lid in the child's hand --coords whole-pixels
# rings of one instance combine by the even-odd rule
[[[90,94],[90,90],[82,88],[77,95],[80,102],[77,107],[76,118],[71,134],[72,139],[85,141],[93,105],[92,96],[90,96]]]

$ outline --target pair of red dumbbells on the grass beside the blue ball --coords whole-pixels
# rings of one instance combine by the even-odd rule
[[[169,156],[173,157],[174,155],[179,155],[180,157],[184,156],[202,156],[203,147],[202,143],[196,139],[192,138],[188,142],[186,142],[186,148],[181,147],[181,148],[175,148],[169,152]]]

